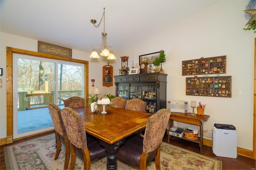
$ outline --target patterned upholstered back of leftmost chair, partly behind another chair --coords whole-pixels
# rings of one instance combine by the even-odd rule
[[[56,104],[50,103],[48,109],[52,118],[52,123],[54,125],[55,131],[62,136],[67,135],[64,123],[62,121],[62,117],[60,115],[60,107],[58,107]]]

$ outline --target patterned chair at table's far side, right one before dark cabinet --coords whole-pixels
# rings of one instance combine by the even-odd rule
[[[147,102],[139,98],[134,98],[126,101],[126,109],[145,112]]]

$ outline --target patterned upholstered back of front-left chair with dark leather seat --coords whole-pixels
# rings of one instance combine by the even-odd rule
[[[65,107],[60,113],[70,142],[77,148],[85,149],[87,141],[82,116],[70,107]]]

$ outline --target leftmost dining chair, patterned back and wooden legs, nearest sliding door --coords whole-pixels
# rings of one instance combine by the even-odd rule
[[[54,125],[55,131],[56,131],[56,154],[54,157],[54,160],[58,159],[58,156],[60,154],[61,150],[61,141],[64,139],[64,145],[65,145],[65,160],[64,160],[64,170],[68,169],[68,162],[70,158],[70,141],[68,139],[65,126],[62,121],[62,117],[60,115],[60,107],[57,105],[50,103],[48,106],[49,113],[52,118],[52,123]]]

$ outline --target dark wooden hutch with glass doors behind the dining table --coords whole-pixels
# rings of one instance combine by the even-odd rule
[[[166,108],[167,74],[145,73],[114,76],[116,84],[116,96],[125,100],[140,98],[147,102],[146,112]]]

